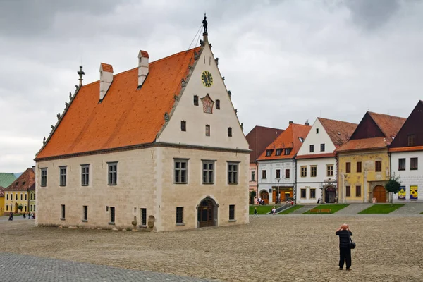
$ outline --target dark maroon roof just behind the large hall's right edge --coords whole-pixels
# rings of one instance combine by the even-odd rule
[[[248,145],[250,145],[250,150],[252,150],[250,152],[250,163],[254,163],[264,149],[281,133],[283,133],[283,129],[280,128],[266,128],[259,125],[252,128],[250,133],[245,136]]]

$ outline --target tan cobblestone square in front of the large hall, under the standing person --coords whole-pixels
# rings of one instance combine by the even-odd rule
[[[341,223],[350,224],[357,243],[353,271],[338,270],[335,231]],[[11,267],[8,259],[16,259],[10,253],[220,281],[417,282],[423,276],[422,215],[259,216],[245,226],[165,233],[36,228],[34,221],[0,221],[0,236],[1,281],[15,281],[4,280]],[[52,263],[37,263],[44,262],[46,267]],[[82,271],[81,277],[106,273],[86,265],[72,267]],[[62,275],[60,268],[51,271]],[[120,275],[121,281],[132,280]],[[113,280],[99,277],[91,281]],[[37,281],[32,278],[19,281]],[[164,281],[155,279],[148,281]]]

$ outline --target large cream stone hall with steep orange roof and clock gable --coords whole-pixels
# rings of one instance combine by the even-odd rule
[[[248,222],[248,143],[200,47],[80,86],[37,162],[37,225],[173,231]],[[82,68],[82,67],[81,67]]]

